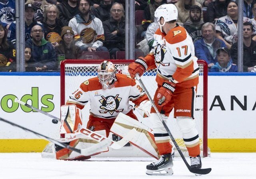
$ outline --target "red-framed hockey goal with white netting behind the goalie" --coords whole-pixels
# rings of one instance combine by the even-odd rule
[[[103,60],[64,60],[60,64],[60,105],[64,105],[68,100],[69,95],[74,92],[81,83],[97,76],[98,65]],[[128,74],[128,65],[134,60],[109,60],[116,66],[117,73]],[[198,60],[199,71],[199,84],[196,94],[196,111],[195,120],[196,128],[200,138],[200,150],[203,157],[210,155],[210,149],[208,148],[208,133],[207,133],[207,120],[208,120],[208,108],[207,108],[207,83],[208,83],[208,67],[207,63],[203,60]],[[157,84],[155,81],[156,69],[146,71],[141,77],[144,85],[150,93],[150,96],[154,96]],[[90,104],[87,104],[89,106]],[[90,107],[85,107],[82,110],[82,116],[89,116]],[[169,118],[172,118],[173,113]],[[83,119],[85,120],[85,119]],[[88,119],[87,119],[88,120]],[[146,120],[144,120],[146,121]],[[148,125],[148,124],[146,124]],[[182,134],[178,130],[178,126],[174,120],[167,120],[167,125],[172,132],[175,140],[182,149],[184,155],[188,156],[187,149],[182,140]],[[149,125],[150,127],[150,125]],[[64,137],[64,135],[62,135]],[[176,152],[178,154],[178,152]]]

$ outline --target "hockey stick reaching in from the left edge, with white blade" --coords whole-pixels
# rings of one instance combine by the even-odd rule
[[[13,123],[13,122],[10,122],[10,121],[8,121],[8,120],[5,120],[5,119],[3,119],[3,118],[0,118],[0,120],[3,121],[3,122],[6,122],[6,123],[8,123],[8,124],[10,124],[10,125],[12,125],[12,126],[16,126],[16,127],[18,127],[18,128],[21,128],[21,129],[23,129],[23,130],[25,130],[25,131],[32,132],[33,134],[36,134],[37,136],[40,136],[40,137],[42,137],[42,138],[44,138],[44,139],[46,139],[46,140],[48,140],[48,141],[50,141],[50,142],[52,142],[52,143],[54,143],[54,144],[57,144],[57,145],[59,145],[59,146],[61,146],[61,147],[63,147],[63,148],[70,149],[70,150],[72,150],[72,151],[76,151],[76,152],[78,152],[78,153],[81,153],[81,155],[84,155],[84,156],[90,156],[90,155],[92,155],[92,154],[95,153],[94,151],[96,151],[96,150],[98,150],[98,149],[101,149],[101,148],[103,148],[103,147],[106,147],[106,146],[108,146],[108,145],[111,143],[111,141],[110,141],[108,138],[106,138],[106,140],[103,140],[102,142],[99,142],[98,144],[95,144],[94,146],[92,146],[92,147],[90,147],[90,148],[87,148],[87,149],[77,149],[77,148],[71,147],[71,146],[68,145],[68,144],[59,142],[58,140],[49,138],[49,137],[47,137],[47,136],[44,136],[44,135],[42,135],[42,134],[39,134],[38,132],[35,132],[35,131],[33,131],[33,130],[30,130],[30,129],[28,129],[28,128],[25,128],[25,127],[23,127],[23,126],[20,126],[20,125],[18,125],[18,124],[15,124],[15,123]]]

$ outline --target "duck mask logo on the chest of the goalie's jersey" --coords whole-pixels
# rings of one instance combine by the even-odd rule
[[[99,110],[100,113],[107,113],[109,112],[111,115],[114,112],[122,112],[124,109],[117,109],[119,107],[119,103],[122,100],[122,98],[118,98],[119,94],[116,94],[116,96],[101,96],[102,99],[99,100],[102,106],[100,106],[101,109]]]

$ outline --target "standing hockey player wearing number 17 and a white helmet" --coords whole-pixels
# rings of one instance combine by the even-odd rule
[[[187,31],[176,24],[178,18],[176,6],[161,5],[154,15],[159,28],[154,34],[152,50],[146,57],[139,57],[131,63],[128,71],[134,78],[136,73],[141,76],[146,70],[157,68],[158,88],[154,95],[156,107],[164,120],[174,108],[174,117],[188,149],[191,167],[201,168],[200,142],[193,116],[199,74],[193,41]],[[146,173],[172,175],[170,137],[153,108],[150,120],[152,120],[154,137],[161,157],[158,161],[147,165]]]

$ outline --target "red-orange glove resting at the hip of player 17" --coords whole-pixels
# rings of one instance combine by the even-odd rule
[[[175,90],[175,83],[170,81],[164,81],[162,87],[158,90],[158,94],[156,98],[158,99],[158,105],[164,106],[166,105],[172,98],[172,94]]]

